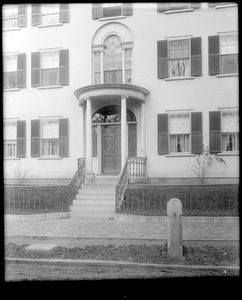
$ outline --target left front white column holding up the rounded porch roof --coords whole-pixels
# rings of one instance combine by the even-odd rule
[[[92,174],[92,100],[86,99],[86,173]]]

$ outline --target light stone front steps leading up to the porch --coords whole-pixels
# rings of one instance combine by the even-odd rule
[[[86,181],[70,206],[71,218],[114,218],[118,176],[96,175]]]

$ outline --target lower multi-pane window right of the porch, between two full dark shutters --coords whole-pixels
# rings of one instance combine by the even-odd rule
[[[189,113],[169,115],[170,153],[190,152]]]

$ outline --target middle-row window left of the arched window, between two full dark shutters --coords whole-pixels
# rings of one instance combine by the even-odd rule
[[[41,85],[59,84],[59,51],[41,53]]]

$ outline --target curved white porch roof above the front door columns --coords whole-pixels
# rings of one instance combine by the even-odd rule
[[[148,94],[147,89],[132,84],[94,84],[81,87],[74,92],[79,104],[83,104],[87,98],[120,100],[121,96],[144,102]]]

